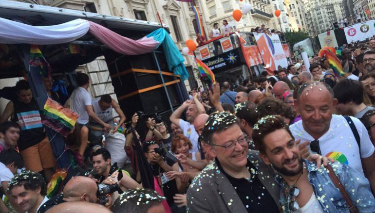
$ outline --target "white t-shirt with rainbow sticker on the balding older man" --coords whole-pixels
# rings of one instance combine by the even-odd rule
[[[347,164],[356,169],[359,173],[363,173],[361,158],[370,157],[375,150],[370,140],[369,134],[360,120],[356,117],[350,117],[358,131],[361,145],[361,156],[359,157],[359,148],[356,138],[346,119],[342,115],[332,115],[329,130],[319,138],[320,151],[323,156],[331,157],[341,164]],[[314,138],[304,131],[302,120],[289,127],[293,136],[301,139],[301,143],[305,141],[313,141]],[[310,153],[315,153],[310,150]]]

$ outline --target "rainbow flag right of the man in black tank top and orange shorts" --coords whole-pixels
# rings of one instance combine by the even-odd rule
[[[67,137],[78,120],[78,116],[72,110],[61,106],[51,98],[47,98],[42,111],[42,123],[49,128]]]

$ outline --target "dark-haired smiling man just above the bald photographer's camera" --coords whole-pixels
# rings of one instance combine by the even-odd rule
[[[94,176],[98,182],[106,184],[118,184],[118,192],[121,194],[128,189],[141,188],[142,186],[133,180],[125,170],[119,170],[117,164],[111,166],[111,154],[105,148],[99,148],[92,155]]]

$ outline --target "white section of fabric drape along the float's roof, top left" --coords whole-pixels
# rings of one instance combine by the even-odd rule
[[[84,19],[51,26],[32,26],[0,18],[0,43],[36,45],[68,43],[85,35],[89,28],[90,23]]]

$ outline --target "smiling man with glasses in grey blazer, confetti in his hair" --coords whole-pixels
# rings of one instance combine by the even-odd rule
[[[190,184],[187,212],[279,213],[279,191],[273,174],[260,162],[256,151],[248,150],[234,115],[211,115],[201,137],[215,160]]]

